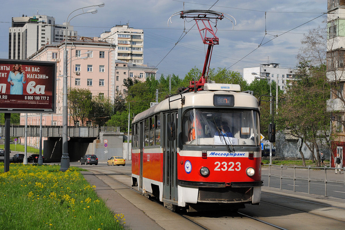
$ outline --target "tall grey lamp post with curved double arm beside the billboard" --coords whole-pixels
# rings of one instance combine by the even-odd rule
[[[68,143],[67,143],[67,28],[69,25],[69,22],[74,18],[77,17],[78,15],[85,14],[85,13],[97,13],[96,9],[91,9],[86,12],[84,12],[83,9],[89,8],[89,7],[103,7],[104,3],[101,2],[97,5],[92,5],[88,7],[82,7],[79,9],[76,9],[72,11],[68,16],[66,20],[66,31],[65,31],[65,49],[63,50],[63,109],[62,109],[62,156],[61,156],[61,167],[60,171],[65,172],[69,168],[69,156],[68,156]],[[68,20],[69,16],[77,11],[77,10],[82,10],[83,12],[80,14],[77,14],[73,16],[70,20]]]

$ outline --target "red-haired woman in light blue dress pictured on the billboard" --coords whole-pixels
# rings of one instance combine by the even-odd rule
[[[12,67],[7,81],[11,84],[10,94],[23,94],[23,84],[26,83],[26,77],[20,64],[15,64]]]

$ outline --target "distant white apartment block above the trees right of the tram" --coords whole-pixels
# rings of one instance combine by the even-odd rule
[[[260,76],[270,77],[271,83],[272,81],[278,83],[284,92],[286,92],[286,80],[290,80],[294,76],[294,69],[279,68],[278,63],[260,64],[258,67],[243,68],[243,79],[247,80],[248,84],[255,80],[255,75],[252,75],[253,72]]]

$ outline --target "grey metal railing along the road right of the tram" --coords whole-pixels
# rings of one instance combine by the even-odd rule
[[[308,194],[310,193],[310,183],[311,182],[324,182],[325,183],[325,197],[327,196],[327,183],[335,183],[335,184],[344,184],[345,185],[345,167],[343,168],[332,168],[332,167],[311,167],[311,166],[286,166],[286,165],[273,165],[273,164],[264,164],[269,167],[268,169],[268,174],[262,173],[262,175],[268,176],[268,187],[270,187],[270,177],[277,177],[280,178],[280,190],[283,190],[282,188],[282,181],[283,179],[293,179],[294,180],[294,192],[296,191],[295,186],[296,186],[296,179],[297,180],[306,180],[308,181]],[[278,174],[272,174],[271,173],[271,167],[279,168],[280,167],[280,175]],[[293,176],[289,175],[283,175],[283,168],[293,168]],[[301,177],[301,176],[296,176],[296,168],[297,169],[308,169],[308,178],[307,177]],[[319,178],[312,178],[311,177],[311,169],[321,169],[325,171],[325,178],[324,179],[319,179]],[[332,169],[343,169],[343,174],[344,174],[344,180],[330,180],[327,179],[327,170]],[[334,173],[334,171],[333,171]]]

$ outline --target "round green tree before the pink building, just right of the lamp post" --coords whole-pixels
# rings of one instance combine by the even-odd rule
[[[92,94],[89,89],[71,88],[67,96],[67,106],[73,122],[84,124],[92,110]]]

